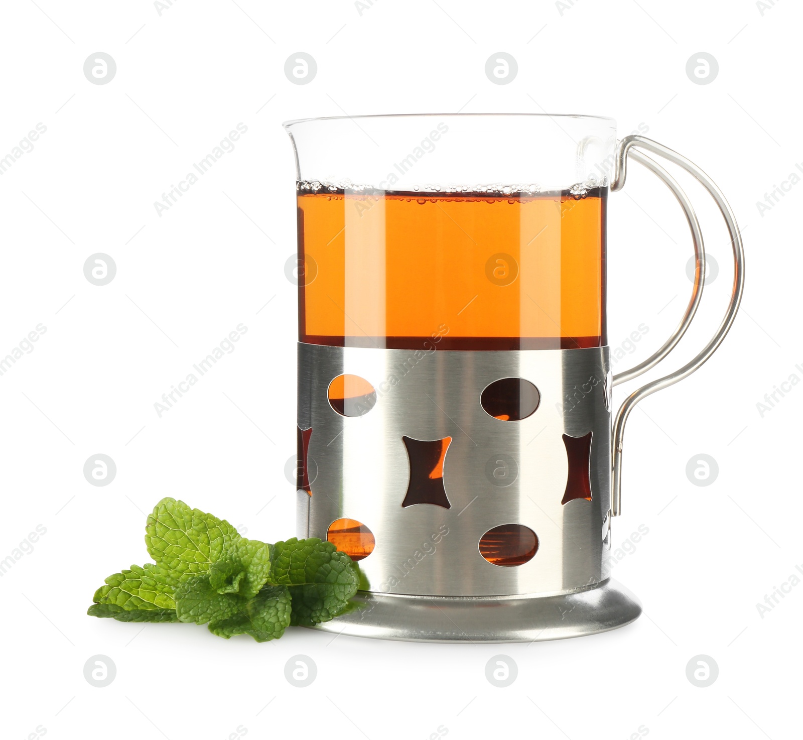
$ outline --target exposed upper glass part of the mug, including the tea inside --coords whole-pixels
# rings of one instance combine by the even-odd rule
[[[287,125],[300,172],[300,341],[604,345],[615,127],[583,116],[560,126],[556,137],[532,116]]]

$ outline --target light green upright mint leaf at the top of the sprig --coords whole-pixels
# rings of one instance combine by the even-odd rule
[[[225,519],[190,509],[173,498],[159,501],[145,525],[145,545],[151,558],[176,579],[206,573],[239,539]]]

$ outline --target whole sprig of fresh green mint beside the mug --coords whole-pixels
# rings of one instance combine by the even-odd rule
[[[240,537],[183,501],[149,514],[145,545],[155,562],[110,575],[88,615],[120,622],[207,624],[214,635],[275,640],[289,625],[312,626],[349,610],[360,571],[331,542],[268,545]]]

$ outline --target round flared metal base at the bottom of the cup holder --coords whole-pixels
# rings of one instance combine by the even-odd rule
[[[642,613],[620,583],[554,596],[407,596],[361,591],[358,607],[313,629],[414,642],[534,642],[624,627]]]

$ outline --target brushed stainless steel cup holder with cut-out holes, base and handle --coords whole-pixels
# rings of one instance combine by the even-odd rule
[[[705,274],[691,202],[666,170],[635,147],[683,167],[711,193],[732,239],[734,286],[713,339],[675,373],[631,394],[611,435],[613,386],[650,370],[675,348],[695,316]],[[305,455],[312,495],[297,492],[298,534],[325,539],[333,521],[349,517],[376,538],[373,553],[360,562],[368,586],[357,597],[359,608],[319,629],[395,640],[511,642],[604,632],[640,615],[638,600],[609,578],[608,566],[611,517],[621,511],[625,423],[636,403],[686,378],[719,346],[739,307],[744,256],[728,203],[698,167],[654,141],[626,137],[618,144],[614,191],[624,185],[628,157],[675,195],[697,260],[677,329],[631,370],[612,375],[607,347],[470,352],[299,344],[298,420],[301,430],[312,430]],[[349,418],[329,403],[328,386],[340,374],[365,378],[376,390],[377,401],[365,415]],[[483,390],[500,378],[532,382],[540,392],[535,413],[509,422],[484,411]],[[566,501],[564,437],[588,435],[590,500]],[[413,475],[403,437],[451,438],[442,461],[447,505],[402,505]],[[515,471],[502,487],[487,476],[492,460],[507,460]],[[483,533],[507,524],[536,533],[538,549],[528,562],[499,566],[480,553]]]

